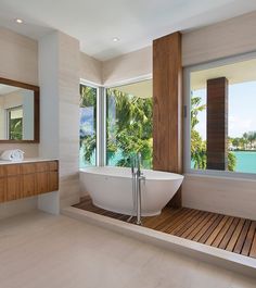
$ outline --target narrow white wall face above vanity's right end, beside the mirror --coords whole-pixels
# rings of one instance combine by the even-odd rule
[[[42,158],[59,159],[59,43],[50,34],[39,41],[40,143]]]

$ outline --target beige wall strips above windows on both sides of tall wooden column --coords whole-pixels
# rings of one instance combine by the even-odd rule
[[[183,66],[255,50],[256,12],[182,34]],[[152,47],[102,63],[102,84],[106,86],[150,74]]]

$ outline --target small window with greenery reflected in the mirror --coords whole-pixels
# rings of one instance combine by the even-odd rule
[[[8,109],[8,139],[23,139],[23,107]]]

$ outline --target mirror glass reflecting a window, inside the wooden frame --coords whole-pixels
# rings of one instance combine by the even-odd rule
[[[0,140],[34,140],[34,90],[0,84]]]

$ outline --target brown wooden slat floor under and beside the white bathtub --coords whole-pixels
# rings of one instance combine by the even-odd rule
[[[90,197],[74,206],[120,221],[129,218],[94,206]],[[142,223],[148,228],[256,259],[256,221],[188,208],[165,208],[161,215],[143,217]]]

